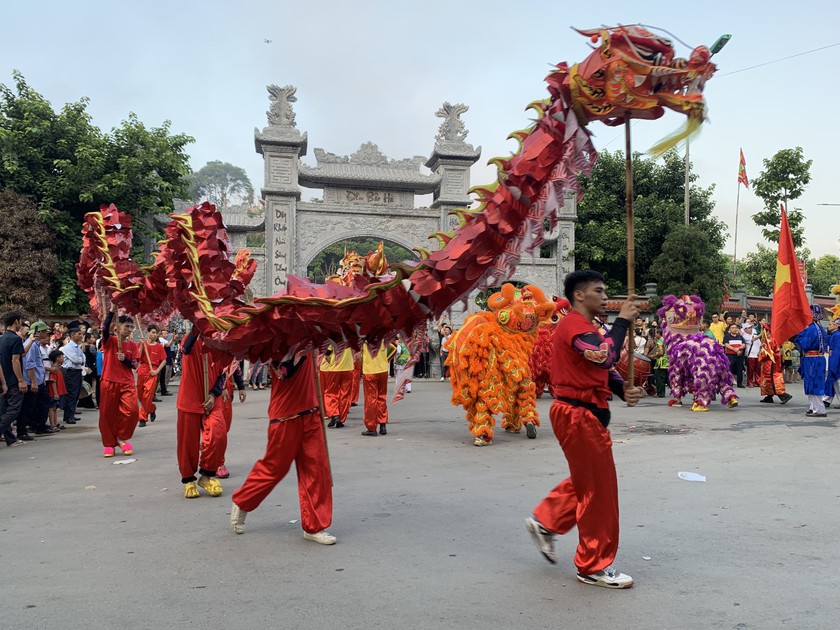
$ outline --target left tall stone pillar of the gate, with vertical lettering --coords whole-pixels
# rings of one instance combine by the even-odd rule
[[[262,198],[265,200],[265,290],[266,295],[286,286],[286,276],[295,272],[295,211],[300,201],[300,157],[306,155],[306,134],[296,129],[292,103],[296,88],[267,86],[271,107],[268,126],[254,129],[254,145],[265,160]]]

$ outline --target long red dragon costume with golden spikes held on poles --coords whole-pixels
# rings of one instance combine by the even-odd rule
[[[671,42],[640,26],[579,31],[600,41],[580,64],[560,63],[548,75],[548,98],[532,103],[536,120],[513,137],[519,149],[499,158],[497,181],[475,189],[478,207],[459,210],[460,225],[437,234],[442,247],[419,262],[392,263],[360,274],[351,286],[289,276],[284,290],[246,304],[242,294],[254,261],[235,261],[222,216],[207,203],[172,215],[154,264],[130,257],[130,218],[103,206],[86,215],[79,283],[101,312],[110,297],[126,311],[155,316],[177,309],[210,347],[237,358],[283,360],[334,343],[358,350],[398,331],[411,335],[474,288],[499,286],[523,253],[553,228],[566,191],[580,193],[597,153],[586,125],[654,119],[666,108],[688,117],[684,135],[705,117],[702,90],[715,66],[709,50],[675,58]],[[672,146],[670,140],[659,150]]]

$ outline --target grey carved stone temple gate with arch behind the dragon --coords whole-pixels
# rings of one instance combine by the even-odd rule
[[[313,167],[301,162],[308,138],[295,124],[296,88],[270,85],[268,91],[268,126],[254,130],[256,150],[265,160],[265,220],[225,216],[235,247],[245,245],[247,233],[264,229],[265,250],[251,248],[259,263],[252,282],[255,295],[279,291],[287,274],[306,276],[319,252],[347,238],[375,237],[408,249],[432,249],[437,245],[429,240],[431,234],[457,225],[449,213],[472,204],[470,167],[479,159],[481,147],[466,142],[467,130],[460,119],[469,109],[465,105],[444,103],[436,112],[443,122],[428,159],[389,159],[366,142],[350,156],[315,149]],[[302,187],[321,189],[322,200],[301,201]],[[432,195],[431,205],[415,207],[415,196],[427,194]],[[575,198],[567,198],[559,226],[546,235],[541,255],[524,257],[512,280],[559,293],[563,277],[574,269],[576,212]],[[475,308],[472,301],[470,305]]]

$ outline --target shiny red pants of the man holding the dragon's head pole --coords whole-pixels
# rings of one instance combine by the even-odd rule
[[[578,526],[575,565],[589,575],[610,566],[618,551],[618,481],[612,439],[583,407],[555,402],[550,416],[569,462],[569,478],[542,500],[534,518],[557,534]]]

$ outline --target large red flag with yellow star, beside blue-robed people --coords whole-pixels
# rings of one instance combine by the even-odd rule
[[[783,343],[803,331],[811,323],[811,307],[796,261],[793,236],[782,206],[779,228],[779,254],[776,258],[776,283],[773,288],[773,313],[770,327],[773,338]]]

